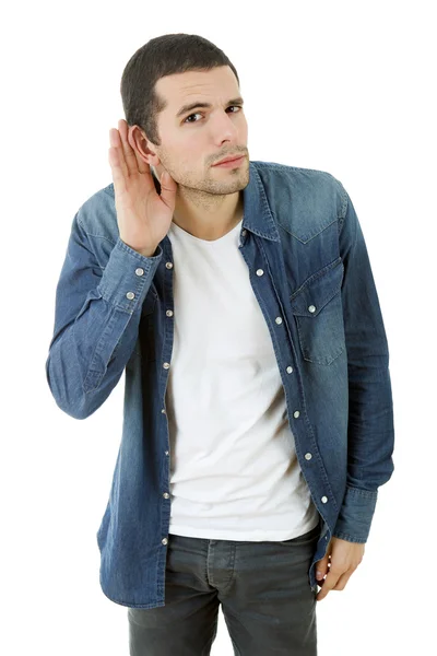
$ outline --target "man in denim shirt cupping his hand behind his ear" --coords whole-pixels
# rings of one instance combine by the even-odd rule
[[[76,419],[126,373],[102,589],[137,656],[210,653],[220,604],[237,654],[314,656],[316,601],[362,562],[393,471],[357,215],[331,174],[249,160],[237,72],[206,39],[152,39],[121,95],[46,364]]]

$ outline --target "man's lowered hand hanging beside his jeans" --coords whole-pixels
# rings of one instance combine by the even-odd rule
[[[324,599],[331,590],[344,590],[351,574],[363,560],[364,549],[364,543],[331,538],[327,553],[316,563],[316,578],[321,587],[316,597],[317,601]],[[321,573],[320,578],[317,576],[318,572]]]

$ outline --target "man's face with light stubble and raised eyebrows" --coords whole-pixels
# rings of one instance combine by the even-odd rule
[[[149,142],[160,159],[157,165],[152,162],[157,177],[165,168],[176,183],[191,189],[214,195],[244,189],[249,183],[248,129],[232,69],[224,66],[167,75],[156,82],[156,92],[168,103],[157,119],[162,145]],[[179,114],[194,103],[211,106]],[[245,157],[238,166],[213,166],[235,154]]]

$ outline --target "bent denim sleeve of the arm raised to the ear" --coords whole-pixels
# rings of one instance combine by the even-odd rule
[[[107,399],[134,349],[143,301],[163,256],[142,256],[118,237],[106,267],[75,214],[56,289],[46,376],[61,410],[90,417]]]

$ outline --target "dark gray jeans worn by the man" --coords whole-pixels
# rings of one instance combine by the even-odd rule
[[[218,606],[236,656],[317,656],[308,570],[319,525],[291,540],[169,535],[165,606],[128,608],[130,656],[208,656]]]

